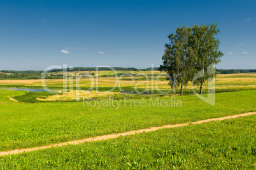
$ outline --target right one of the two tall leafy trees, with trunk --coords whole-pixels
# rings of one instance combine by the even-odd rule
[[[196,62],[192,65],[197,72],[201,71],[201,77],[194,83],[200,84],[200,94],[203,93],[203,83],[209,78],[213,78],[215,73],[209,73],[213,65],[220,62],[220,57],[224,55],[218,48],[220,41],[215,36],[220,32],[217,24],[211,25],[193,25],[192,36],[190,37],[190,47]]]

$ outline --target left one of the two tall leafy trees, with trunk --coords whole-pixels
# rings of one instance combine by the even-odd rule
[[[180,96],[183,95],[183,85],[187,85],[189,78],[189,39],[191,27],[178,27],[176,34],[169,34],[170,43],[166,44],[166,50],[162,56],[163,65],[159,67],[161,71],[169,74],[171,87],[176,89],[180,85]]]

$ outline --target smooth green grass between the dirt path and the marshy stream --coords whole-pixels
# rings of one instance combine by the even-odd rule
[[[183,96],[176,97],[181,99],[182,107],[125,107],[122,103],[118,110],[115,107],[96,110],[97,106],[83,107],[81,102],[1,104],[0,150],[256,111],[255,95],[256,90],[217,94],[215,106],[196,96]]]

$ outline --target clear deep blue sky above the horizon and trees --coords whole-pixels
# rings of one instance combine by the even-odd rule
[[[0,70],[162,64],[179,25],[220,29],[217,68],[256,69],[256,1],[0,1]]]

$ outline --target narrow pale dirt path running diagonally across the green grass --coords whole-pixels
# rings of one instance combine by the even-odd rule
[[[31,152],[31,151],[34,151],[34,150],[43,150],[43,149],[46,149],[46,148],[52,148],[52,147],[56,147],[56,146],[78,145],[80,143],[85,143],[85,142],[90,142],[90,141],[100,141],[100,140],[103,140],[103,139],[104,140],[113,139],[113,138],[118,138],[119,136],[139,134],[139,133],[142,133],[142,132],[152,132],[152,131],[157,131],[158,129],[181,127],[181,126],[190,125],[190,124],[203,124],[205,122],[211,122],[211,121],[215,121],[215,120],[225,120],[225,119],[230,119],[230,118],[246,117],[248,115],[255,115],[255,114],[256,114],[256,112],[243,113],[243,114],[240,114],[240,115],[232,115],[232,116],[228,116],[228,117],[210,118],[210,119],[207,119],[207,120],[200,120],[200,121],[197,121],[197,122],[192,122],[192,123],[187,123],[187,124],[164,125],[164,126],[161,126],[161,127],[151,127],[149,129],[140,129],[140,130],[137,130],[137,131],[122,132],[122,133],[118,133],[118,134],[108,134],[108,135],[104,135],[104,136],[96,136],[96,137],[92,137],[92,138],[80,139],[80,140],[77,140],[77,141],[68,141],[66,143],[59,143],[59,144],[48,145],[48,146],[39,146],[39,147],[25,148],[25,149],[20,149],[20,150],[10,150],[10,151],[6,151],[6,152],[0,152],[0,156],[10,155],[10,154],[17,154],[17,153],[22,153],[22,152]]]

